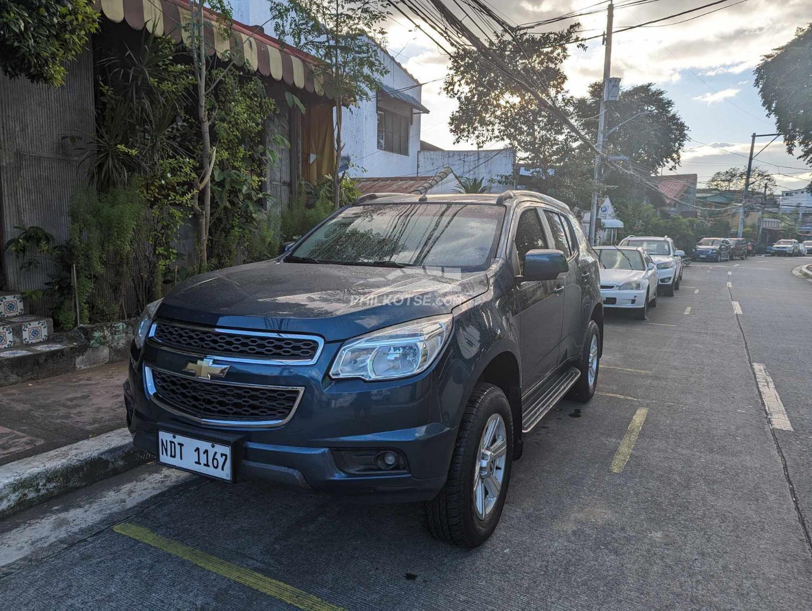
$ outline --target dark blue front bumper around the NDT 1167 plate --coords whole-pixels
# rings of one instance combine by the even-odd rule
[[[296,381],[306,389],[290,422],[257,428],[197,423],[164,409],[149,395],[141,361],[131,359],[124,397],[133,444],[146,452],[158,453],[158,431],[175,432],[231,445],[235,481],[265,480],[372,502],[428,500],[445,483],[457,428],[440,422],[443,384],[433,368],[414,379],[375,384],[302,371]],[[456,386],[444,389],[451,399]],[[358,473],[347,467],[348,451],[372,449],[397,451],[403,468]]]

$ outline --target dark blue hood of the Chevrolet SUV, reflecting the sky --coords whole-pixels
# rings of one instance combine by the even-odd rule
[[[158,317],[345,340],[391,324],[447,314],[487,289],[484,271],[443,274],[422,268],[271,260],[184,281],[162,301]]]

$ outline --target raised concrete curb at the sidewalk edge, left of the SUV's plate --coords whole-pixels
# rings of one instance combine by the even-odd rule
[[[120,428],[0,466],[0,518],[151,460]]]

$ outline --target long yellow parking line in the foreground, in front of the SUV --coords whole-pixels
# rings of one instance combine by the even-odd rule
[[[296,587],[287,585],[276,579],[266,577],[255,570],[246,569],[244,566],[235,565],[231,562],[221,560],[218,557],[210,556],[205,552],[198,549],[190,548],[188,545],[178,543],[172,539],[166,539],[161,535],[155,534],[149,528],[144,526],[137,526],[123,522],[113,526],[113,530],[119,535],[126,535],[132,539],[136,539],[141,543],[158,548],[162,552],[170,553],[173,556],[183,558],[186,561],[198,565],[201,569],[209,570],[235,581],[242,583],[244,586],[253,587],[254,590],[261,591],[263,594],[273,596],[277,600],[282,600],[284,603],[290,604],[298,609],[313,609],[313,611],[335,611],[343,609],[335,604],[330,604],[316,596],[301,591]]]

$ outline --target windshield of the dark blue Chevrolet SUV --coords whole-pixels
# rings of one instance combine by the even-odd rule
[[[285,260],[482,271],[494,256],[503,217],[503,206],[484,204],[348,206]]]

